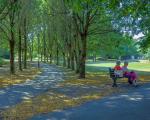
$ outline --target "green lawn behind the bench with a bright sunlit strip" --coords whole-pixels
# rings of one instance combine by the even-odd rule
[[[86,72],[109,76],[108,68],[114,66],[115,62],[107,62],[107,61],[100,61],[95,63],[87,62]],[[129,70],[134,70],[138,73],[139,80],[141,82],[150,82],[150,63],[130,62],[128,68]]]

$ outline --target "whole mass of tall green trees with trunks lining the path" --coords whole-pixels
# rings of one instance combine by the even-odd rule
[[[148,0],[0,0],[0,51],[10,51],[10,72],[37,60],[85,78],[89,56],[119,58],[148,52]],[[133,35],[142,33],[140,41]],[[138,44],[138,45],[137,45]],[[15,62],[15,60],[17,62]]]

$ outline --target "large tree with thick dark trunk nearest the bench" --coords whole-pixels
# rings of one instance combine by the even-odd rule
[[[80,36],[80,78],[85,78],[85,62],[87,56],[87,38],[90,34],[102,34],[112,32],[113,29],[96,27],[97,22],[106,17],[105,1],[100,0],[67,0],[69,10],[72,12],[77,32]]]

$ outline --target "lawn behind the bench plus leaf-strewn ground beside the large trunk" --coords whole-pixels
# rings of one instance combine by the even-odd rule
[[[69,75],[69,80],[65,81],[67,85],[106,85],[111,84],[112,80],[109,77],[108,68],[114,67],[115,62],[87,62],[86,64],[86,79],[78,79],[75,74]],[[122,64],[123,65],[123,64]],[[129,70],[134,70],[138,74],[138,82],[150,82],[150,63],[130,62]],[[127,79],[119,79],[118,82],[127,83]]]

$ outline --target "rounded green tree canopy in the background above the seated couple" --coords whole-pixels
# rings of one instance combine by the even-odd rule
[[[132,38],[117,33],[109,33],[105,36],[90,37],[88,53],[102,57],[118,58],[138,54],[137,47]]]

